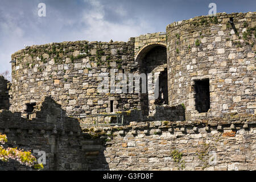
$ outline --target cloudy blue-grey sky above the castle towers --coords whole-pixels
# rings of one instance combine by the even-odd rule
[[[0,73],[10,70],[11,54],[27,46],[89,40],[127,42],[130,37],[164,32],[167,24],[217,13],[255,11],[255,0],[1,0]],[[38,16],[39,3],[46,17]]]

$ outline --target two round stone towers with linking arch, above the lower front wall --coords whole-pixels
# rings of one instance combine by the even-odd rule
[[[168,63],[162,59],[166,46]],[[127,43],[78,41],[27,47],[12,56],[16,63],[12,63],[10,109],[26,113],[27,104],[52,96],[68,114],[142,109],[144,115],[154,115],[155,106],[167,102],[184,104],[187,120],[254,114],[255,50],[255,13],[200,16],[170,24],[166,34],[141,35]],[[148,65],[153,66],[150,71]],[[98,93],[99,76],[110,77],[110,68],[115,76],[148,72],[163,76],[160,87],[163,93],[168,90],[168,101],[163,93],[160,100],[152,98],[152,90],[126,94],[120,88],[115,94]],[[161,82],[166,77],[168,88],[166,81]],[[209,80],[209,93],[203,93],[203,97],[210,95],[208,112],[196,106],[196,98],[204,100],[196,95],[195,82],[200,80]],[[153,77],[153,90],[154,86]]]

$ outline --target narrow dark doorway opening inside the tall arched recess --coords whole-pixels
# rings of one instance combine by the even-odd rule
[[[168,75],[167,68],[159,75],[159,97],[156,100],[157,105],[168,105]]]

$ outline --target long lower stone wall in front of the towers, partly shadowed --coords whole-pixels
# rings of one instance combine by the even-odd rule
[[[0,133],[10,147],[46,152],[44,170],[256,170],[252,114],[89,129],[65,114],[48,97],[31,119],[1,110]],[[1,162],[0,169],[31,170],[14,161]]]

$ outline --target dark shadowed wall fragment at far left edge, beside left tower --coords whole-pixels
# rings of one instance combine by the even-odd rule
[[[9,81],[5,80],[3,76],[0,76],[0,110],[8,110],[10,107],[9,104]]]

